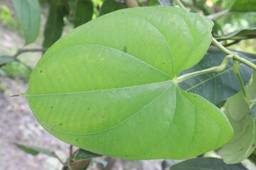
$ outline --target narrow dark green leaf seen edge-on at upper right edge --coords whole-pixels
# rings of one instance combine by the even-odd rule
[[[256,27],[254,28],[247,28],[242,30],[236,30],[233,33],[229,33],[221,38],[216,38],[218,41],[222,40],[236,40],[238,38],[256,38]]]

